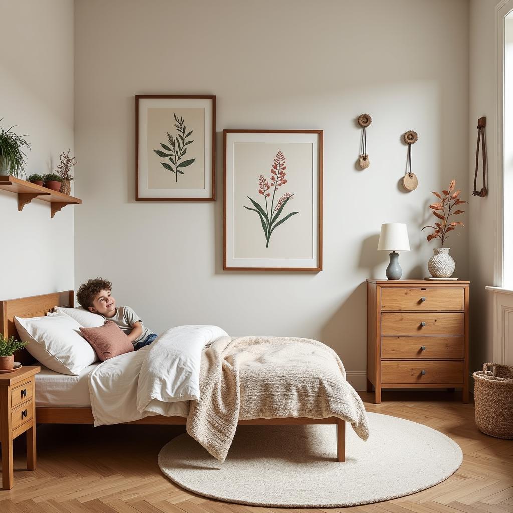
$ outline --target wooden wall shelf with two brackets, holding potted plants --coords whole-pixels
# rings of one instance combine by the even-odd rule
[[[82,200],[62,192],[52,191],[46,187],[20,180],[14,176],[0,176],[0,190],[14,192],[18,195],[18,212],[23,210],[33,199],[50,203],[50,217],[53,218],[66,205],[80,205]]]

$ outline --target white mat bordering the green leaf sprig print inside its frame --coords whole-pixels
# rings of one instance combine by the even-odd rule
[[[139,198],[210,198],[212,196],[212,106],[210,98],[139,98]],[[205,109],[205,188],[148,189],[148,108]]]

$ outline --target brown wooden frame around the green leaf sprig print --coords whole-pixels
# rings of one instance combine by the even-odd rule
[[[140,101],[147,99],[155,100],[210,100],[212,102],[212,134],[211,134],[211,171],[207,172],[209,162],[205,161],[205,177],[210,177],[211,186],[208,196],[201,197],[149,197],[140,194]],[[207,142],[207,133],[205,133],[205,143]],[[210,140],[210,139],[209,139]],[[169,167],[168,167],[169,168]],[[177,173],[175,173],[177,174]],[[183,189],[177,189],[183,190]],[[201,190],[201,189],[198,189]],[[137,94],[135,95],[135,200],[136,201],[215,201],[215,95],[169,95],[169,94]]]

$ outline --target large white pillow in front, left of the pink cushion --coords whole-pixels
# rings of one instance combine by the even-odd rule
[[[46,317],[14,317],[19,339],[28,341],[28,352],[55,372],[78,376],[94,363],[96,353],[80,334],[80,324],[59,312]]]

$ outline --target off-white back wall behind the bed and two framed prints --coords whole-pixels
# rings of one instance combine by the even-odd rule
[[[367,277],[383,277],[381,223],[406,222],[404,277],[427,275],[431,190],[467,198],[466,0],[78,0],[75,2],[75,287],[113,281],[157,331],[216,323],[297,335],[365,373]],[[216,94],[215,203],[135,203],[134,95]],[[370,168],[355,168],[368,112]],[[324,130],[324,270],[222,270],[222,130]],[[413,129],[419,188],[405,193],[401,134]],[[464,214],[463,221],[466,221]],[[452,236],[468,278],[468,231]],[[279,313],[269,297],[279,301]],[[363,377],[362,374],[362,377]],[[361,380],[358,383],[363,383]]]

